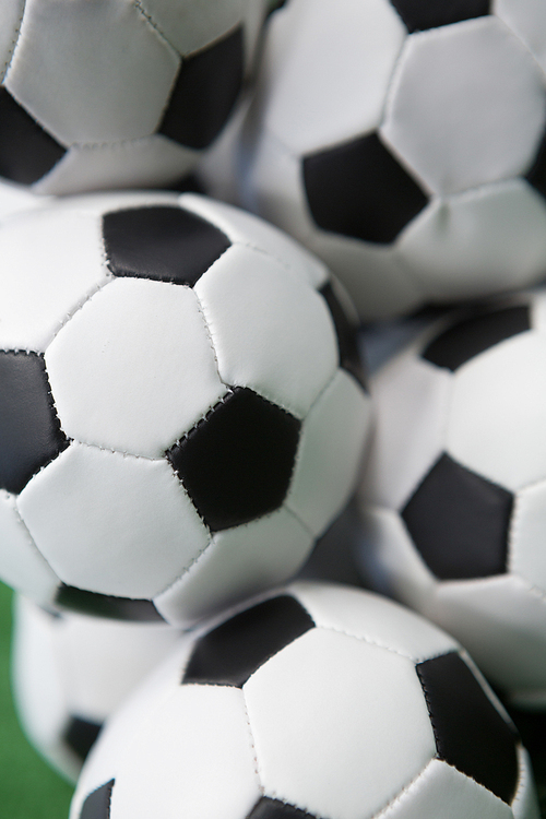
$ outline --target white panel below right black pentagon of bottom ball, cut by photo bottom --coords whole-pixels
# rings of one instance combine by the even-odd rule
[[[513,819],[506,803],[439,759],[432,759],[378,819],[429,816],[435,819]]]

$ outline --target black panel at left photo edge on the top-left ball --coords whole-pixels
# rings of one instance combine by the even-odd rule
[[[67,150],[0,87],[0,176],[21,185],[41,179]]]

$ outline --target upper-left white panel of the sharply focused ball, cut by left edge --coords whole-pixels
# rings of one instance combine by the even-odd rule
[[[0,227],[0,346],[44,352],[108,277],[97,221],[38,209]]]

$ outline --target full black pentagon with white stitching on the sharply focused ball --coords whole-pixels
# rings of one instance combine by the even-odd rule
[[[301,424],[247,388],[234,388],[166,454],[213,532],[283,503]]]

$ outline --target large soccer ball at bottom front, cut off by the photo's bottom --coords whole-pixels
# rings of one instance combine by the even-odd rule
[[[527,756],[460,646],[295,584],[185,642],[105,727],[70,818],[531,819]]]

